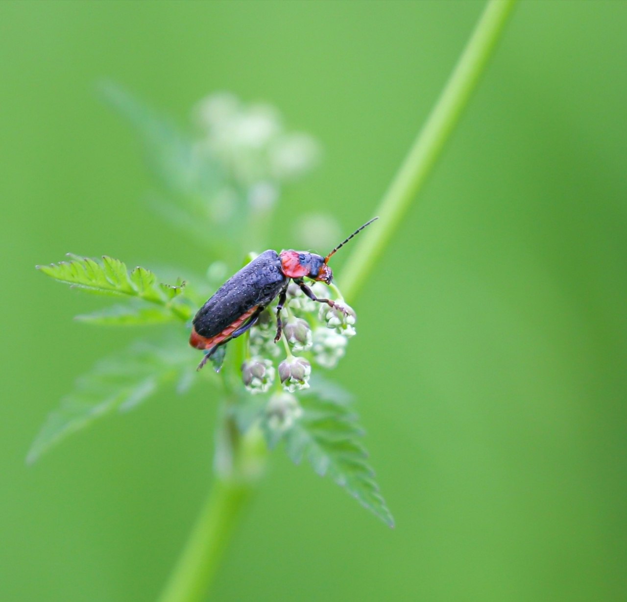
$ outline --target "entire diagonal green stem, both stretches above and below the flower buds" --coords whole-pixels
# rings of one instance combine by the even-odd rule
[[[356,296],[372,271],[374,262],[433,168],[485,68],[514,3],[515,0],[490,0],[483,11],[445,89],[384,196],[379,208],[381,227],[370,228],[350,255],[342,284],[342,291],[350,299]],[[238,451],[234,449],[234,455],[238,455]],[[253,491],[252,484],[238,483],[216,478],[213,491],[159,602],[198,602],[206,596],[240,510]]]

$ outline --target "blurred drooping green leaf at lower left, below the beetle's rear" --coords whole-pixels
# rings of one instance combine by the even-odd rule
[[[167,382],[191,382],[195,364],[193,352],[178,341],[157,347],[136,343],[125,352],[100,360],[76,380],[75,390],[51,412],[31,446],[26,461],[39,456],[71,433],[83,429],[115,409],[136,407]]]

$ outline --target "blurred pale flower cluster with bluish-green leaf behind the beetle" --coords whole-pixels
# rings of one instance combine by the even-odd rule
[[[100,90],[144,143],[159,183],[150,208],[216,257],[265,248],[283,188],[320,154],[314,139],[283,126],[275,107],[226,92],[201,99],[195,127],[184,131],[115,83]]]

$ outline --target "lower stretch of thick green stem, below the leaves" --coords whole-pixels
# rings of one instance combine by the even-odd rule
[[[250,485],[216,478],[159,602],[201,602],[218,569]]]

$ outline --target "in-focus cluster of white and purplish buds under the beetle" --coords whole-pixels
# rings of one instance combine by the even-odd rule
[[[272,308],[263,311],[250,329],[249,358],[242,365],[242,379],[250,392],[268,391],[276,374],[286,392],[307,389],[312,366],[334,368],[344,356],[349,338],[355,335],[355,312],[334,285],[315,282],[311,288],[315,296],[334,299],[344,311],[312,301],[297,284],[290,284],[282,311],[283,344],[274,341],[277,323]],[[287,357],[275,369],[281,355]]]

